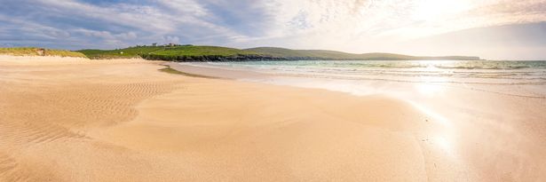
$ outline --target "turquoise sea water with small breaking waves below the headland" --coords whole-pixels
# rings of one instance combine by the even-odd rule
[[[210,62],[273,75],[427,83],[546,85],[546,61],[298,60]]]

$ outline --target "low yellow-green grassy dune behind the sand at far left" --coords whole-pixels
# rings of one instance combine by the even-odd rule
[[[50,50],[36,47],[0,48],[0,54],[12,56],[59,56],[87,58],[82,52],[66,50]]]

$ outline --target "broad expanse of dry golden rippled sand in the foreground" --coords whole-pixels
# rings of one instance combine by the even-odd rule
[[[408,101],[168,74],[163,63],[0,57],[0,181],[546,178],[544,123],[526,140],[472,125],[469,138],[502,152],[475,139],[452,148],[455,126]]]

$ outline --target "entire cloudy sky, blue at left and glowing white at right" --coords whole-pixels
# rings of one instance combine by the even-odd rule
[[[546,0],[0,0],[0,47],[153,43],[546,59]]]

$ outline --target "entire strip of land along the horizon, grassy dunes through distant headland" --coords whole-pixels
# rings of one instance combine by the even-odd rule
[[[475,56],[410,56],[394,53],[347,53],[328,50],[291,50],[278,47],[235,49],[220,46],[165,44],[137,45],[115,50],[85,49],[61,51],[33,47],[0,48],[0,54],[28,56],[68,56],[89,59],[130,59],[169,61],[249,61],[249,60],[478,60]]]

